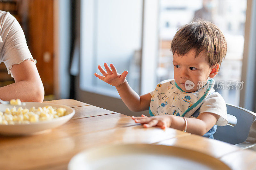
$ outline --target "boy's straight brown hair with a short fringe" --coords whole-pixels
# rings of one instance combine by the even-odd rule
[[[173,55],[183,56],[191,49],[196,50],[196,57],[204,52],[209,66],[220,63],[227,53],[227,42],[220,29],[207,21],[188,23],[178,29],[172,40]]]

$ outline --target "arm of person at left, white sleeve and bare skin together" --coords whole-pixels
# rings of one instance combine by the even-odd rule
[[[3,46],[0,56],[8,73],[12,73],[15,83],[0,88],[0,98],[11,100],[19,98],[23,102],[42,102],[44,87],[33,57],[29,52],[25,35],[19,22],[9,13],[4,13],[1,21]],[[15,64],[20,63],[20,64]]]

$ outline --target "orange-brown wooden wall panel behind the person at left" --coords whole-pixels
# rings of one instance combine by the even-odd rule
[[[45,95],[53,94],[53,0],[29,0],[28,36]]]

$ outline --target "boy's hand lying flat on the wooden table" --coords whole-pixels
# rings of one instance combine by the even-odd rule
[[[132,119],[135,121],[135,123],[143,124],[144,128],[157,126],[161,129],[165,129],[171,126],[171,117],[166,115],[147,117],[144,114],[142,114],[141,117],[132,116]]]

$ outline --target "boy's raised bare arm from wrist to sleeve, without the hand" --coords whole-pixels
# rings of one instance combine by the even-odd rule
[[[145,95],[139,96],[132,88],[129,86],[128,82],[125,80],[123,84],[116,87],[121,99],[124,104],[132,112],[140,112],[148,110],[151,100],[151,94],[147,93]]]

